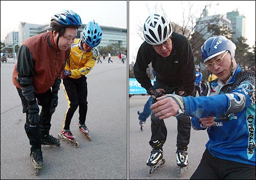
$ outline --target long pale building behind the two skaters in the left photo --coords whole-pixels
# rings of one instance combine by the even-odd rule
[[[82,27],[78,29],[78,36],[76,38],[82,38],[83,30],[86,24],[83,24]],[[127,29],[118,28],[118,27],[109,27],[109,26],[100,26],[103,37],[99,46],[108,46],[112,43],[117,43],[121,47],[127,48]],[[19,43],[32,36],[45,33],[50,31],[52,27],[49,24],[30,24],[26,22],[20,22],[19,24]]]

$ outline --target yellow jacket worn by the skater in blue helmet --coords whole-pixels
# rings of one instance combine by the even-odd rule
[[[70,55],[65,66],[66,70],[71,71],[71,78],[78,79],[88,74],[95,66],[98,56],[98,49],[92,48],[90,52],[81,50],[82,39],[75,39],[71,44]]]

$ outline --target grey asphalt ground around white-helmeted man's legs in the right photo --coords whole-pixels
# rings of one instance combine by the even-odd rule
[[[184,169],[182,177],[179,176],[180,168],[176,165],[176,137],[177,121],[175,117],[165,119],[167,139],[163,146],[165,164],[148,175],[149,167],[146,165],[150,155],[151,137],[150,116],[146,120],[143,131],[140,131],[137,111],[142,111],[149,96],[132,96],[129,98],[129,179],[189,179],[205,150],[208,140],[206,131],[195,131],[191,128],[190,143],[188,145],[188,169]]]

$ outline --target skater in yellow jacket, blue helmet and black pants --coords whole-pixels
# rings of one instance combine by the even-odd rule
[[[98,23],[90,21],[86,24],[82,39],[75,39],[71,45],[71,51],[59,78],[62,80],[65,96],[68,101],[68,107],[64,115],[63,130],[58,135],[62,140],[70,142],[71,145],[78,147],[75,137],[70,131],[70,123],[75,110],[79,106],[79,129],[89,140],[89,129],[85,125],[87,114],[87,77],[86,75],[93,69],[97,56],[99,45],[102,38],[102,31]]]

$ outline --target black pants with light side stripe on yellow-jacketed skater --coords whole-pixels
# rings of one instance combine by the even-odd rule
[[[68,101],[68,108],[65,113],[63,129],[69,130],[71,119],[79,106],[79,123],[85,124],[87,114],[87,81],[83,76],[79,79],[63,79],[64,92]]]

